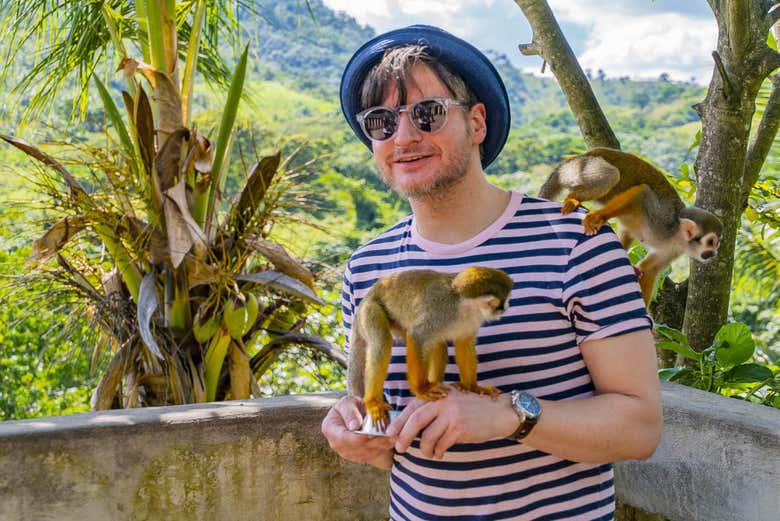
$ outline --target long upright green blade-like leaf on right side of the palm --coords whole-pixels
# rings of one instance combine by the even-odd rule
[[[206,220],[205,223],[203,223],[207,235],[208,231],[211,229],[211,221],[214,217],[218,191],[217,187],[222,185],[222,176],[227,172],[225,164],[227,163],[227,156],[230,153],[228,144],[231,142],[233,125],[235,124],[236,114],[238,113],[238,104],[241,101],[241,93],[244,90],[248,54],[249,45],[246,45],[244,47],[244,52],[241,53],[241,58],[238,60],[236,70],[233,73],[227,101],[225,101],[225,107],[222,111],[222,121],[219,124],[219,134],[217,135],[217,143],[214,147],[214,165],[211,168],[211,187],[209,189],[208,206],[206,208]]]

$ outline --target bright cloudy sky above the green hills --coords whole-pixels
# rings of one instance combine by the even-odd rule
[[[323,0],[377,32],[436,25],[539,74],[542,61],[517,45],[531,28],[514,0]],[[607,77],[709,83],[717,25],[706,0],[548,0],[583,69]],[[546,75],[551,76],[549,68]]]

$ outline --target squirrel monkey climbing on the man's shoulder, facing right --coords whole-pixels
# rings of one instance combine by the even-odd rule
[[[558,165],[539,192],[552,199],[562,189],[569,193],[561,213],[574,211],[581,201],[602,207],[583,219],[585,233],[594,235],[608,219],[618,219],[618,237],[628,249],[634,239],[648,249],[637,265],[645,305],[653,295],[661,271],[683,253],[698,261],[715,256],[723,225],[717,216],[686,208],[666,176],[633,154],[594,148]]]

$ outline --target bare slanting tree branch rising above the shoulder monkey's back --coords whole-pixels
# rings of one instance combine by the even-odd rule
[[[546,1],[515,0],[531,24],[533,43],[521,46],[521,52],[539,54],[547,63],[571,107],[588,147],[620,148],[596,96],[582,72],[574,52],[564,38]]]

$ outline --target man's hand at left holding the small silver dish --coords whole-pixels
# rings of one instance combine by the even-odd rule
[[[364,410],[359,399],[344,396],[322,420],[322,434],[330,447],[342,458],[389,469],[393,465],[395,438],[366,436],[353,432],[363,424]]]

